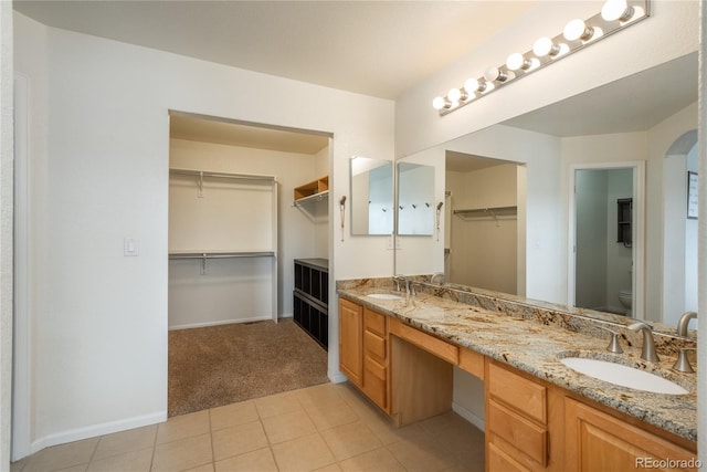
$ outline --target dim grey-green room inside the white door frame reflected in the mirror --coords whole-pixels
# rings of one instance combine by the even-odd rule
[[[578,169],[574,192],[574,306],[633,316],[633,169]]]

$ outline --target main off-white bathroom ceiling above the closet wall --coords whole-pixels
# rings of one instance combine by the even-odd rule
[[[61,28],[394,99],[539,1],[35,1]]]

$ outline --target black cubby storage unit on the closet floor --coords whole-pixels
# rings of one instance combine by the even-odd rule
[[[329,261],[295,259],[293,316],[309,336],[328,350]]]

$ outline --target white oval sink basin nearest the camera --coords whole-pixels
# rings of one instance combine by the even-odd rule
[[[645,370],[635,369],[621,364],[584,357],[566,357],[560,359],[560,361],[570,369],[577,370],[580,374],[614,385],[620,385],[622,387],[652,391],[655,394],[688,394],[687,390],[671,380],[646,373]]]

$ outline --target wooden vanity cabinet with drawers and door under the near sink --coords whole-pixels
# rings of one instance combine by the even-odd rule
[[[485,433],[487,472],[695,470],[659,468],[695,443],[488,358]]]

